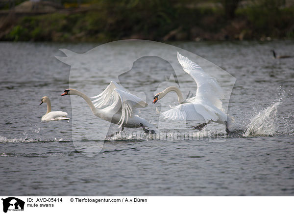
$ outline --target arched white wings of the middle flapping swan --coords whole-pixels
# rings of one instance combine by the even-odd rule
[[[91,98],[96,98],[93,104],[97,108],[111,107],[114,112],[122,111],[122,116],[118,124],[120,127],[123,122],[127,123],[128,118],[131,117],[138,107],[146,107],[148,104],[141,98],[127,92],[127,90],[116,83],[111,81],[106,89],[99,95]]]

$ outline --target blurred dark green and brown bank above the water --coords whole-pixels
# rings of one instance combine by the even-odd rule
[[[294,39],[294,0],[0,2],[0,40]]]

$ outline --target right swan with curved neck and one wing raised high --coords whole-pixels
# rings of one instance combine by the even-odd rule
[[[164,118],[196,121],[200,123],[200,125],[193,128],[199,131],[210,122],[220,123],[225,125],[226,132],[229,133],[227,115],[221,110],[221,99],[223,99],[224,96],[217,80],[212,78],[209,74],[206,74],[199,65],[187,57],[177,53],[177,59],[184,71],[196,81],[196,96],[184,100],[179,88],[171,86],[156,94],[153,104],[162,99],[167,93],[175,91],[180,105],[162,112],[161,114]]]

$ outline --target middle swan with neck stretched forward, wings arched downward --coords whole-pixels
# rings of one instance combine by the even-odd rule
[[[111,81],[106,89],[98,94],[93,102],[82,92],[76,89],[66,89],[61,96],[65,95],[77,95],[82,97],[93,114],[100,117],[103,120],[109,121],[114,124],[118,124],[119,128],[138,128],[142,127],[145,133],[149,133],[148,128],[152,125],[145,119],[135,115],[138,107],[146,107],[148,104],[141,98],[129,93],[126,89],[117,84],[115,81]],[[151,130],[154,133],[154,130]]]

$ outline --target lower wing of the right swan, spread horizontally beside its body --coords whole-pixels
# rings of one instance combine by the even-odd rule
[[[162,115],[164,118],[172,120],[193,120],[197,123],[204,123],[209,120],[217,121],[219,118],[217,110],[194,103],[178,105],[163,112]]]

